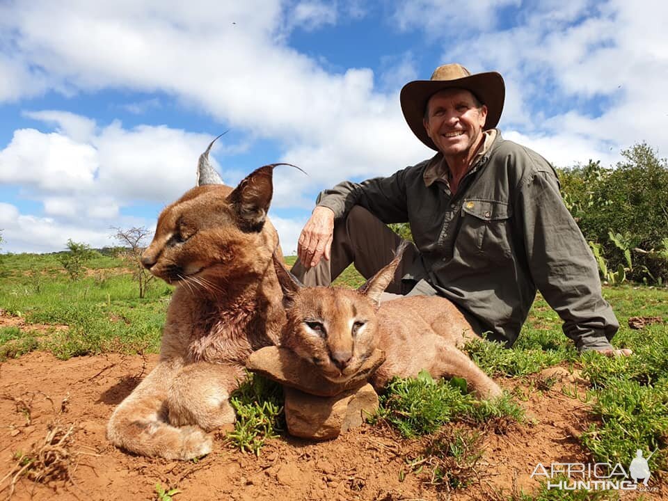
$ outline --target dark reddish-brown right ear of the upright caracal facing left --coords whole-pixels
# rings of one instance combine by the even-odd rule
[[[260,167],[247,175],[232,193],[228,202],[237,215],[239,228],[244,232],[259,232],[267,220],[273,195],[272,173],[276,164]]]

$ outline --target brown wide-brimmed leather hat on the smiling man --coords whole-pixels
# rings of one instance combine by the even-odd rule
[[[457,63],[439,66],[431,75],[431,80],[415,80],[408,82],[401,89],[401,111],[411,127],[413,134],[432,150],[437,150],[434,141],[427,136],[424,129],[424,109],[429,97],[447,88],[463,88],[470,90],[482,104],[487,106],[487,120],[484,129],[495,127],[501,118],[506,86],[503,77],[497,72],[471,74],[465,67]]]

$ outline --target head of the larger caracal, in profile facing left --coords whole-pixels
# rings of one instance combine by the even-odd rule
[[[168,283],[207,289],[221,280],[255,280],[271,266],[278,246],[276,230],[267,221],[278,164],[255,170],[232,189],[209,164],[212,145],[200,157],[198,186],[161,212],[141,258],[146,269]]]

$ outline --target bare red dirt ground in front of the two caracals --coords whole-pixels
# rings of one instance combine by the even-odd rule
[[[61,361],[35,352],[2,363],[0,478],[15,467],[15,451],[43,443],[54,420],[63,429],[74,425],[68,447],[72,482],[19,479],[12,499],[154,500],[159,482],[182,491],[175,501],[499,500],[499,489],[507,496],[514,484],[525,491],[535,488],[538,482],[530,474],[536,463],[589,461],[573,438],[587,423],[586,407],[560,391],[573,383],[538,392],[530,391],[528,381],[501,381],[508,389],[522,385],[518,389],[528,395],[523,406],[530,422],[511,424],[505,434],[486,431],[482,476],[466,491],[429,485],[426,469],[410,472],[406,460],[420,456],[424,439],[401,440],[389,429],[369,425],[325,443],[287,436],[270,440],[259,458],[230,449],[222,436],[214,452],[196,463],[133,456],[107,442],[106,421],[156,360],[109,354]],[[0,498],[8,496],[9,482],[10,477],[0,483]],[[647,496],[661,498],[661,492]]]

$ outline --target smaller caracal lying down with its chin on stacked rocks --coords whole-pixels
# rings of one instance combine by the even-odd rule
[[[426,369],[437,378],[466,379],[478,397],[500,395],[499,386],[459,349],[473,331],[450,301],[412,296],[379,304],[404,249],[400,246],[395,259],[358,290],[303,287],[274,257],[287,314],[281,346],[335,383],[354,376],[379,348],[385,362],[369,379],[376,390],[393,376],[415,377]]]

